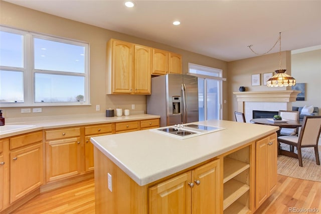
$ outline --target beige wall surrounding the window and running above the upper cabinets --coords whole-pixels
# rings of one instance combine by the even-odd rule
[[[90,44],[90,101],[92,105],[42,107],[43,112],[36,114],[21,114],[21,108],[3,108],[4,116],[7,118],[97,113],[95,107],[97,104],[100,105],[100,113],[103,113],[106,108],[131,109],[131,104],[135,104],[134,111],[146,111],[145,95],[105,94],[106,43],[110,38],[179,53],[183,58],[183,73],[187,72],[188,63],[191,62],[222,69],[223,77],[227,77],[227,63],[225,61],[52,16],[3,1],[0,1],[0,24],[21,30],[86,41]],[[224,82],[223,100],[227,100],[227,96],[227,82]],[[228,104],[223,104],[223,119],[228,118],[227,110]]]

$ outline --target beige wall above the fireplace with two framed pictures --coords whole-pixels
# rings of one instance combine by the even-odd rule
[[[263,85],[263,73],[273,73],[279,69],[279,53],[267,54],[242,60],[228,62],[228,100],[229,117],[228,120],[235,121],[234,112],[237,111],[237,100],[233,91],[239,91],[240,86],[245,86],[246,91],[268,91],[286,90],[291,87],[267,87]],[[286,69],[286,73],[291,75],[291,53],[281,52],[281,69]],[[251,85],[251,75],[260,74],[261,85]]]

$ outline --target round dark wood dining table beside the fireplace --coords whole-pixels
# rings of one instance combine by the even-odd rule
[[[267,120],[267,118],[256,118],[256,119],[250,120],[250,122],[254,123],[254,124],[262,124],[262,125],[270,125],[270,126],[280,127],[280,129],[278,131],[276,131],[277,137],[280,136],[280,132],[281,132],[282,128],[294,129],[294,128],[302,126],[302,121],[293,121],[293,120],[288,120],[287,122],[273,122],[273,121]],[[288,154],[288,151],[282,150],[279,142],[277,142],[277,145],[278,145],[278,155],[290,156]],[[292,157],[292,156],[290,156],[290,157]]]

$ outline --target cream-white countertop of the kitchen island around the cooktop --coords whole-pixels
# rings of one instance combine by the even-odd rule
[[[225,128],[185,140],[150,130],[105,135],[91,142],[138,185],[143,186],[276,132],[276,126],[232,121],[198,124]]]

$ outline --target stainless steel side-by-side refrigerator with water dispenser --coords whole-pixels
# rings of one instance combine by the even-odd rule
[[[151,78],[147,114],[160,115],[160,126],[186,124],[199,120],[198,78],[166,74]]]

